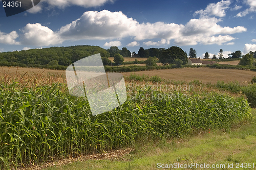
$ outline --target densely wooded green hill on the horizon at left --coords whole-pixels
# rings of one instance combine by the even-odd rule
[[[0,53],[0,65],[22,67],[69,66],[75,61],[98,53],[101,57],[110,57],[110,53],[99,46],[77,45]]]

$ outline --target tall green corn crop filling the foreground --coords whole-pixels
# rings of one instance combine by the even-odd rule
[[[250,116],[243,97],[169,95],[151,87],[134,89],[120,108],[92,116],[87,100],[63,92],[63,86],[20,89],[17,83],[0,84],[1,169],[127,147],[138,139],[181,136],[198,128],[227,128]],[[159,97],[163,94],[168,98]]]

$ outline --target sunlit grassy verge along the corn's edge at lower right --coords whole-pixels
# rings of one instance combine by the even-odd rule
[[[256,109],[252,110],[251,122],[244,122],[225,132],[221,130],[197,131],[181,139],[162,140],[147,144],[137,144],[135,151],[115,160],[87,160],[74,162],[45,170],[75,169],[159,169],[162,164],[212,164],[228,165],[233,168],[248,168],[248,163],[256,164]],[[210,133],[209,133],[210,132]],[[243,165],[242,165],[243,163]],[[247,163],[247,168],[245,168]],[[242,166],[241,166],[242,165]],[[160,168],[163,169],[163,168]],[[168,168],[166,168],[168,169]],[[200,168],[191,168],[200,169]]]

